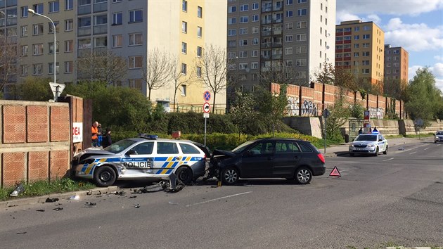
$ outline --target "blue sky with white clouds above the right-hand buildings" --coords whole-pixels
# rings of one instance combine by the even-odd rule
[[[337,0],[337,24],[373,21],[385,32],[385,44],[409,53],[409,80],[429,67],[443,91],[443,0]]]

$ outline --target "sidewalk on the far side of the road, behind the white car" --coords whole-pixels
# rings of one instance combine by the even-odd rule
[[[418,141],[432,141],[432,137],[422,137],[421,139],[418,138],[396,138],[396,139],[389,139],[387,138],[387,143],[390,148],[394,148],[396,146],[402,146],[406,145],[408,143],[416,143]],[[349,142],[350,143],[350,142]],[[349,155],[349,143],[341,143],[338,146],[330,146],[326,147],[326,154],[324,153],[324,148],[319,148],[319,151],[325,155],[325,158],[332,158],[340,155]],[[397,150],[397,148],[394,148]]]

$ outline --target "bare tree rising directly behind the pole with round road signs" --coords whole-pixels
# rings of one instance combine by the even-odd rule
[[[215,111],[215,99],[219,92],[227,87],[227,71],[229,60],[226,49],[219,46],[207,45],[202,56],[195,61],[196,70],[200,70],[198,79],[212,91],[212,113]]]

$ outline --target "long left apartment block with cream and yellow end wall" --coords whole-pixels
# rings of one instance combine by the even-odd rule
[[[139,89],[148,96],[142,68],[149,56],[156,56],[150,52],[157,49],[176,58],[182,75],[189,79],[179,86],[176,102],[200,107],[207,87],[190,77],[195,60],[206,45],[226,48],[227,14],[219,11],[226,9],[226,1],[0,0],[2,8],[7,13],[7,34],[9,29],[17,30],[23,55],[18,62],[18,82],[27,76],[53,75],[53,27],[48,19],[28,13],[28,8],[56,24],[58,83],[77,82],[82,76],[77,74],[77,58],[109,50],[128,63],[127,79],[114,84]],[[153,90],[150,99],[165,108],[172,104],[173,80]],[[224,108],[226,93],[217,93],[217,100]]]

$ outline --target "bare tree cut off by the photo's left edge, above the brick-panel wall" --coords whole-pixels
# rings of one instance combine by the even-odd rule
[[[13,75],[17,74],[17,62],[21,58],[18,55],[17,46],[17,42],[0,34],[0,92]]]

